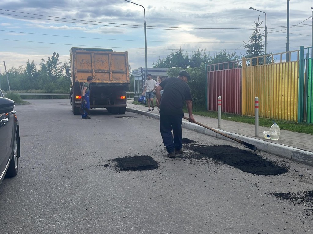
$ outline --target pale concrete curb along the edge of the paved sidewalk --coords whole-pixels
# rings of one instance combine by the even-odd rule
[[[133,112],[133,113],[140,114],[140,115],[146,115],[146,116],[149,116],[149,117],[154,118],[154,119],[160,119],[159,115],[153,114],[153,113],[148,113],[148,112],[145,112],[142,110],[127,108],[126,111]],[[195,132],[198,132],[198,133],[208,135],[208,136],[213,136],[213,137],[216,137],[219,139],[238,143],[238,142],[233,141],[233,140],[231,140],[225,136],[217,134],[217,133],[215,133],[209,129],[206,129],[202,126],[199,126],[198,124],[193,124],[193,123],[190,123],[187,121],[183,121],[182,127],[189,129],[189,130],[192,130],[192,131],[195,131]],[[313,152],[306,151],[303,149],[293,148],[293,147],[286,146],[286,145],[275,144],[272,142],[268,142],[268,141],[264,141],[264,140],[260,140],[260,139],[255,139],[255,138],[251,138],[251,137],[247,137],[244,135],[239,135],[236,133],[231,133],[231,132],[227,132],[227,131],[223,131],[223,130],[219,130],[219,129],[216,129],[216,130],[218,130],[224,134],[227,134],[233,138],[237,138],[239,140],[248,142],[249,144],[253,144],[258,148],[258,150],[261,150],[263,152],[274,154],[274,155],[277,155],[281,158],[287,158],[287,159],[290,159],[290,160],[298,162],[298,163],[303,163],[303,164],[306,164],[309,166],[313,166]]]

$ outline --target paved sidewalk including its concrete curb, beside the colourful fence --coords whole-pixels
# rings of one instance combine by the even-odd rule
[[[157,108],[155,107],[154,111],[144,113],[147,111],[147,107],[142,105],[134,105],[132,104],[132,100],[127,101],[127,111],[131,111],[130,109],[137,110],[137,113],[140,114],[155,114],[159,115],[157,112]],[[135,112],[135,111],[132,111]],[[188,117],[188,114],[185,114]],[[255,126],[252,124],[244,124],[239,122],[233,122],[228,120],[221,120],[221,128],[217,128],[217,119],[204,117],[200,115],[193,115],[195,120],[199,123],[205,124],[208,127],[222,130],[223,133],[231,135],[234,138],[240,139],[242,141],[246,141],[250,144],[257,145],[258,149],[269,152],[271,154],[278,155],[280,157],[289,158],[291,160],[295,160],[301,163],[309,164],[313,166],[313,135],[303,134],[297,132],[290,132],[286,130],[280,130],[280,138],[277,141],[266,140],[263,137],[264,131],[269,131],[267,127],[259,126],[259,137],[255,137]],[[153,117],[153,115],[151,115]],[[156,118],[158,116],[155,116]],[[183,121],[189,123],[187,120],[183,119]],[[187,127],[187,123],[183,124],[183,127],[188,129],[195,129],[195,126]],[[191,124],[191,123],[190,123]],[[196,124],[192,124],[196,125]],[[197,125],[198,126],[198,125]],[[200,126],[199,126],[200,127]],[[202,128],[202,127],[201,127]],[[198,129],[198,130],[197,130]],[[204,131],[203,129],[197,128],[195,129],[198,132],[205,132],[205,134],[214,135],[213,131]],[[217,137],[225,139],[218,135]],[[299,150],[298,150],[299,149]]]

